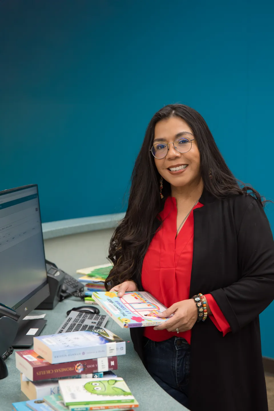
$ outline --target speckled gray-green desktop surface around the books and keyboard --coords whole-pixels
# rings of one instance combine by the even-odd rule
[[[66,311],[72,307],[82,305],[75,299],[59,302],[54,310],[46,310],[45,319],[48,320],[42,331],[43,335],[53,334],[59,325],[66,318]],[[34,311],[34,314],[42,314],[42,311]],[[140,406],[137,410],[148,411],[183,411],[187,410],[175,399],[170,397],[148,374],[142,361],[133,349],[128,329],[120,328],[112,319],[107,322],[106,328],[115,332],[119,337],[126,341],[126,355],[118,357],[118,370],[116,374],[125,379],[133,395],[136,397]],[[26,401],[27,397],[21,392],[20,373],[15,367],[15,355],[12,354],[6,361],[9,376],[0,380],[0,410],[11,411],[12,402]]]

